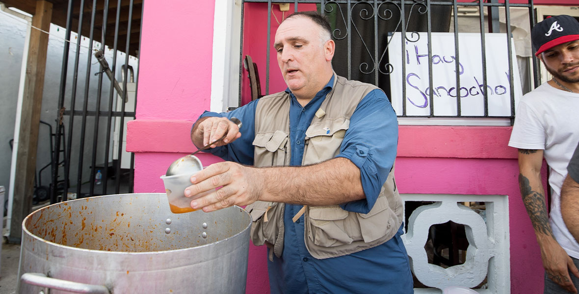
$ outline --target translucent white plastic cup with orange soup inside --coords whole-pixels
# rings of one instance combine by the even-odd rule
[[[192,175],[193,174],[170,175],[169,177],[166,175],[161,176],[165,185],[167,199],[169,200],[169,208],[174,214],[196,211],[191,207],[191,201],[213,191],[210,190],[208,192],[200,193],[195,197],[185,197],[185,188],[193,185],[191,183]]]

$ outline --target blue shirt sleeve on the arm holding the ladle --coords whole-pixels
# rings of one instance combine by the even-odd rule
[[[241,137],[231,142],[230,144],[203,150],[212,155],[219,156],[223,160],[235,161],[241,164],[253,165],[254,163],[254,149],[253,139],[255,137],[255,109],[258,100],[251,101],[247,105],[236,108],[230,112],[204,112],[201,117],[237,117],[241,120],[240,133]]]

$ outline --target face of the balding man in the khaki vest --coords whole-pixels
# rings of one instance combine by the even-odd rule
[[[285,83],[298,98],[313,98],[328,82],[334,41],[322,43],[321,30],[314,21],[301,16],[285,20],[277,29],[277,64]]]

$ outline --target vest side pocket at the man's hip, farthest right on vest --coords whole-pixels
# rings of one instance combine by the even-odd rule
[[[386,235],[392,226],[388,200],[384,192],[379,194],[372,210],[367,214],[356,214],[364,242],[372,242]]]

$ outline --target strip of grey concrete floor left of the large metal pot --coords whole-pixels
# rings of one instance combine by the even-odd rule
[[[0,261],[0,294],[16,293],[18,281],[18,263],[20,259],[20,244],[7,244],[2,241]]]

